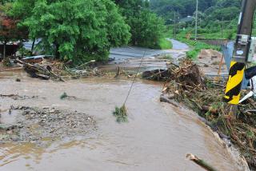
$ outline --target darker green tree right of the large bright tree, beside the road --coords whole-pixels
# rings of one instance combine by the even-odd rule
[[[130,43],[134,46],[163,48],[166,26],[162,18],[149,10],[149,2],[143,0],[115,0],[126,23],[130,26]]]

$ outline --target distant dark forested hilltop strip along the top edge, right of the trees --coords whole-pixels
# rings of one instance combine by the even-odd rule
[[[209,18],[230,20],[236,17],[241,0],[198,0],[198,10]],[[174,18],[174,11],[182,18],[192,16],[196,8],[196,0],[151,0],[150,7],[166,20]]]

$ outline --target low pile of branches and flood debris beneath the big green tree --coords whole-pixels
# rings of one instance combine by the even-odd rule
[[[104,76],[101,70],[98,70],[97,63],[92,60],[80,66],[73,66],[72,62],[61,62],[51,56],[38,55],[27,58],[15,58],[10,60],[9,67],[1,71],[25,70],[31,78],[40,78],[43,80],[53,80],[55,82],[64,82],[65,78],[89,78]]]

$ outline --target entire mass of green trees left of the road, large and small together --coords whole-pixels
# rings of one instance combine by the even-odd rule
[[[104,61],[110,47],[170,48],[162,18],[144,0],[2,0],[12,18],[30,39],[40,39],[46,54],[75,63]],[[32,46],[32,52],[33,52]]]

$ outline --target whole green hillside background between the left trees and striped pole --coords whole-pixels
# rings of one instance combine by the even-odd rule
[[[237,28],[242,0],[198,0],[198,34],[203,38],[232,38]],[[184,34],[194,33],[196,0],[151,0],[150,8],[174,25],[174,13]],[[188,17],[189,16],[189,17]],[[191,16],[191,17],[190,17]],[[187,19],[190,22],[187,22]],[[181,32],[177,29],[177,32]]]

